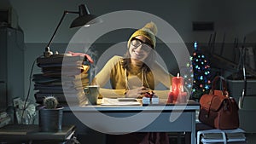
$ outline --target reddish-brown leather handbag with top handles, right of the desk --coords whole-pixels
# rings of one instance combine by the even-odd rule
[[[216,90],[215,84],[221,79],[223,90]],[[220,130],[239,127],[238,106],[235,99],[229,97],[224,78],[216,77],[212,81],[212,90],[200,99],[199,120]]]

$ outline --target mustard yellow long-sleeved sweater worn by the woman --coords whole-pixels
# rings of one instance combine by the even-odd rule
[[[158,84],[163,84],[166,86],[166,90],[154,90],[154,93],[160,98],[167,98],[173,76],[158,62],[154,61],[149,66],[151,72],[143,73],[137,67],[126,72],[121,65],[121,61],[121,56],[113,56],[103,66],[102,70],[96,74],[94,83],[100,85],[100,93],[103,97],[125,97],[127,89],[134,89],[142,85],[149,89],[154,89]],[[109,80],[112,89],[104,89]]]

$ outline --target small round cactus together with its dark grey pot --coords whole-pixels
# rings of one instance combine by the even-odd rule
[[[63,108],[55,96],[46,96],[44,106],[39,109],[39,128],[44,132],[55,132],[61,130]]]

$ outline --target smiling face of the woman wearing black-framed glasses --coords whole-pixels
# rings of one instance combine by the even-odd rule
[[[148,38],[137,36],[131,39],[129,53],[133,60],[145,60],[152,50],[152,44]]]

